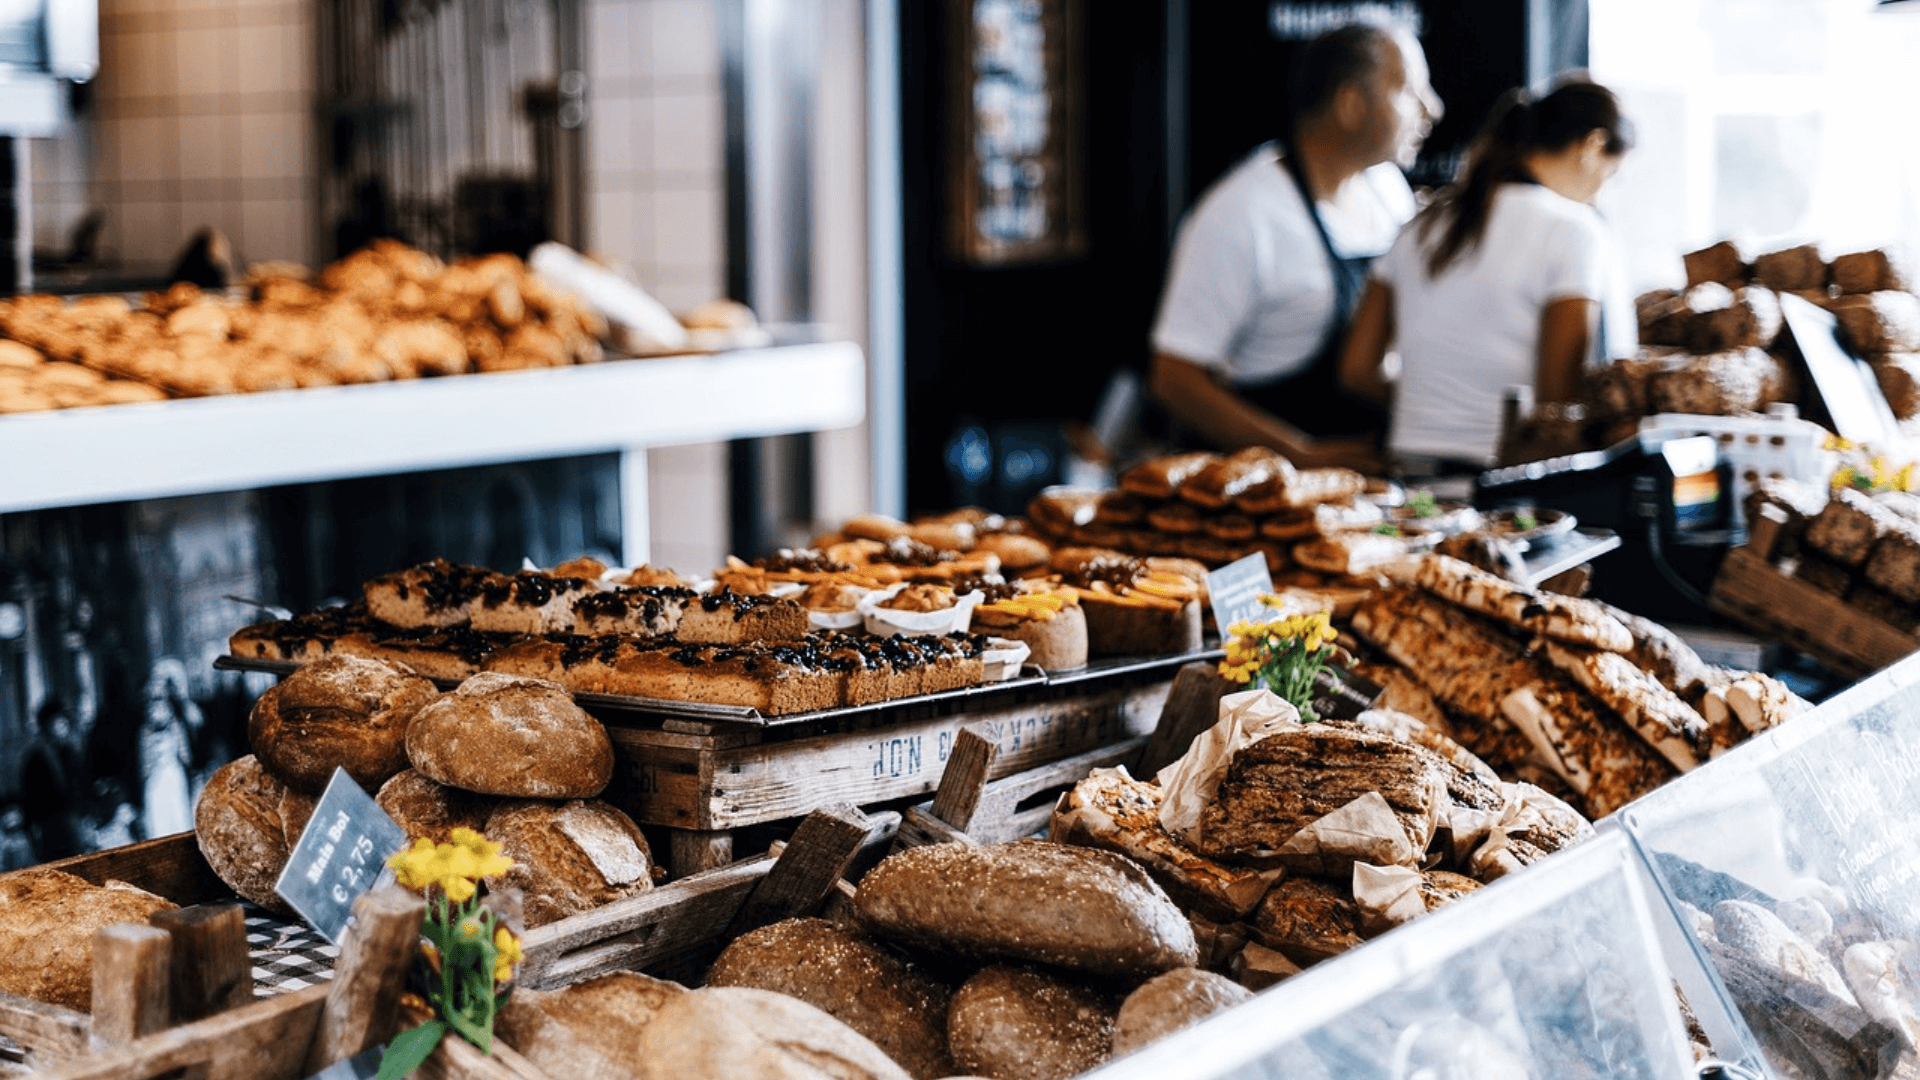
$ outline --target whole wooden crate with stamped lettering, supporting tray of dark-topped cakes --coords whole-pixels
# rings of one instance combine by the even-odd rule
[[[995,778],[1139,740],[1154,730],[1171,676],[1119,673],[968,713],[904,703],[829,724],[609,724],[614,780],[601,798],[641,824],[666,826],[668,869],[684,876],[732,861],[741,826],[931,794],[968,726],[998,748]]]

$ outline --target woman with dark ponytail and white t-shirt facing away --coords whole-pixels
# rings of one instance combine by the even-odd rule
[[[1605,86],[1565,83],[1538,102],[1515,90],[1461,177],[1375,261],[1340,382],[1392,402],[1396,457],[1425,471],[1492,465],[1509,386],[1542,404],[1574,400],[1603,307],[1605,352],[1626,344],[1632,325],[1611,304],[1619,269],[1592,204],[1630,146]],[[1382,371],[1390,348],[1398,382]]]

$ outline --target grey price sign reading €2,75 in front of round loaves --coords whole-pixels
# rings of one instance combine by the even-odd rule
[[[386,861],[405,846],[407,832],[346,769],[334,769],[273,892],[338,945],[353,917],[353,901],[394,880]]]

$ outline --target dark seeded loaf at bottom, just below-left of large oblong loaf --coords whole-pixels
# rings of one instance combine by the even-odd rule
[[[874,1040],[918,1080],[950,1076],[950,990],[908,961],[826,919],[787,919],[733,940],[707,986],[789,994]]]

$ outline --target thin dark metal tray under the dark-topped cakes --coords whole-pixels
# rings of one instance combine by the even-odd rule
[[[952,701],[966,701],[973,698],[991,698],[998,694],[1008,694],[1016,690],[1035,690],[1048,686],[1075,686],[1081,682],[1091,682],[1098,678],[1112,678],[1119,675],[1150,673],[1160,669],[1179,669],[1185,663],[1196,659],[1219,659],[1219,650],[1202,650],[1194,653],[1175,653],[1175,655],[1156,655],[1156,657],[1112,657],[1098,659],[1077,671],[1064,671],[1058,675],[1048,675],[1039,667],[1023,665],[1020,675],[1000,682],[983,682],[979,686],[962,686],[960,690],[943,690],[939,694],[920,694],[916,698],[895,698],[891,701],[874,701],[872,705],[841,705],[837,709],[814,709],[810,713],[781,713],[778,717],[762,717],[758,709],[747,705],[705,705],[699,701],[672,701],[664,698],[632,698],[626,694],[574,694],[574,701],[593,709],[614,709],[622,713],[643,713],[649,717],[664,717],[674,721],[697,721],[697,723],[726,723],[726,724],[751,724],[762,728],[804,724],[814,721],[845,721],[858,717],[874,717],[887,709],[899,707],[922,707],[922,705],[941,705]],[[213,659],[213,667],[219,671],[263,671],[269,675],[292,675],[300,669],[294,661],[284,659],[253,659],[221,655]],[[436,678],[436,686],[442,690],[451,690],[457,682]]]

